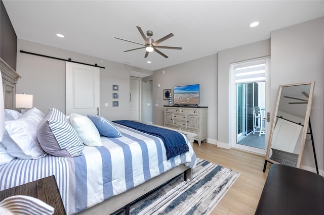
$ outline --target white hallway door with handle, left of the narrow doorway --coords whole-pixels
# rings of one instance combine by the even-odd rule
[[[141,84],[140,78],[130,77],[130,120],[142,120]]]

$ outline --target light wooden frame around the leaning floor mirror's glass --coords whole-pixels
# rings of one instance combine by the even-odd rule
[[[279,85],[278,91],[277,91],[276,103],[274,106],[274,114],[272,117],[272,124],[271,124],[271,129],[270,129],[270,135],[269,135],[269,141],[268,141],[268,146],[267,146],[267,153],[265,156],[265,164],[264,164],[263,172],[265,172],[267,162],[269,162],[271,164],[279,164],[279,163],[275,162],[274,160],[270,159],[269,154],[270,154],[270,150],[271,150],[271,142],[272,142],[272,136],[273,136],[273,131],[274,131],[274,127],[275,127],[275,122],[276,122],[276,118],[277,118],[277,114],[278,114],[279,99],[280,99],[282,87],[298,86],[298,85],[306,85],[306,84],[310,84],[310,89],[309,89],[307,110],[306,110],[304,126],[303,126],[303,133],[302,133],[302,137],[301,137],[300,152],[298,155],[298,161],[297,161],[297,165],[296,165],[297,168],[300,168],[301,161],[303,158],[305,142],[306,142],[306,135],[307,135],[307,130],[308,130],[308,122],[309,122],[309,116],[310,116],[310,111],[311,111],[311,106],[312,106],[315,81],[296,83],[296,84]]]

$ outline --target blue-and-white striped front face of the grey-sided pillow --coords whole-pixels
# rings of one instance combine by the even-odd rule
[[[71,157],[80,155],[85,146],[69,120],[55,108],[51,112],[48,124],[60,148],[66,149]]]

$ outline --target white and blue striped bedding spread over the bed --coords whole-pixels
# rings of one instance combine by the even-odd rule
[[[196,157],[187,138],[189,151],[167,160],[161,139],[118,124],[115,126],[122,137],[102,136],[103,146],[85,146],[80,156],[16,158],[0,166],[1,190],[55,175],[66,212],[72,214],[180,164],[194,168]]]

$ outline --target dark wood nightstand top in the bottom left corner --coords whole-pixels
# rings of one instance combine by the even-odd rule
[[[66,214],[54,176],[49,176],[0,192],[0,201],[14,195],[38,198],[55,208],[54,214]]]

